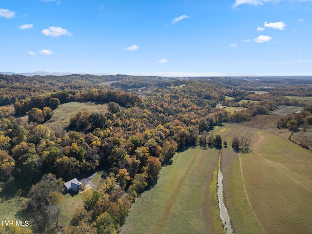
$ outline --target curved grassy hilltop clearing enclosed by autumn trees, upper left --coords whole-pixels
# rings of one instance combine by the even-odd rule
[[[53,116],[50,120],[44,123],[49,129],[54,131],[62,131],[69,124],[69,119],[77,112],[90,111],[91,113],[97,112],[105,114],[108,112],[107,104],[97,102],[69,102],[59,105],[57,109],[53,111]]]

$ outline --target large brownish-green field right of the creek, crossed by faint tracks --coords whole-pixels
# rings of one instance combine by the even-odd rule
[[[215,133],[228,142],[251,138],[252,152],[240,154],[241,165],[230,147],[222,149],[225,203],[235,233],[262,233],[261,227],[274,234],[311,233],[312,153],[252,127],[226,124]]]

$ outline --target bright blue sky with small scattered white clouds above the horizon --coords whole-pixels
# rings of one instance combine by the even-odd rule
[[[312,0],[1,0],[0,71],[312,75]]]

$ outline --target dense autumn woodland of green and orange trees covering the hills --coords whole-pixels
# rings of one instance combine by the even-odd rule
[[[108,81],[114,82],[103,83]],[[312,79],[269,81],[0,75],[0,105],[14,104],[15,109],[13,113],[10,108],[0,109],[1,185],[27,197],[24,213],[37,224],[34,233],[117,233],[132,202],[156,183],[160,168],[177,150],[198,142],[222,147],[222,138],[210,133],[214,126],[267,115],[279,105],[303,110],[281,117],[278,128],[295,131],[311,125],[309,102],[284,96],[311,96],[307,84]],[[44,125],[53,110],[72,101],[106,103],[108,113],[77,110],[61,132]],[[223,106],[246,109],[231,112]],[[27,121],[21,120],[23,115]],[[232,142],[234,148],[248,148],[243,139],[237,142]],[[86,191],[83,207],[75,211],[70,226],[60,227],[64,181],[99,168],[107,171],[101,186]]]

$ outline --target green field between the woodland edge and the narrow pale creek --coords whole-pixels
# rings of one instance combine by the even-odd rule
[[[218,151],[178,153],[157,184],[132,206],[122,234],[224,233],[218,214]]]

